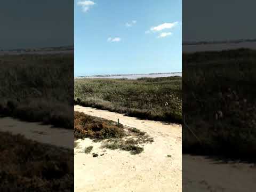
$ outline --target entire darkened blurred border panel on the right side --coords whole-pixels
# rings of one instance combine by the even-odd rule
[[[182,191],[256,187],[255,5],[182,1]]]

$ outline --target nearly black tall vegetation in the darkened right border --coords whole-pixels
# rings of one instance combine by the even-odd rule
[[[183,153],[256,161],[256,51],[183,54]]]

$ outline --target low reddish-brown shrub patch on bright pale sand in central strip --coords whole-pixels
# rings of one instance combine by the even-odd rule
[[[120,149],[130,151],[132,155],[140,154],[143,151],[144,143],[154,142],[146,132],[134,127],[124,127],[114,121],[93,117],[75,111],[75,140],[90,138],[93,141],[102,141],[102,147],[108,149]],[[77,147],[77,142],[75,142]],[[92,146],[86,147],[84,153],[89,154]]]

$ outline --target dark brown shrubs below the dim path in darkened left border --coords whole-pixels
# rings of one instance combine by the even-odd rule
[[[0,154],[1,191],[74,191],[73,150],[2,132]]]

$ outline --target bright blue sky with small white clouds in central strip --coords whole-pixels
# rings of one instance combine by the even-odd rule
[[[181,0],[75,0],[75,76],[181,71]]]

